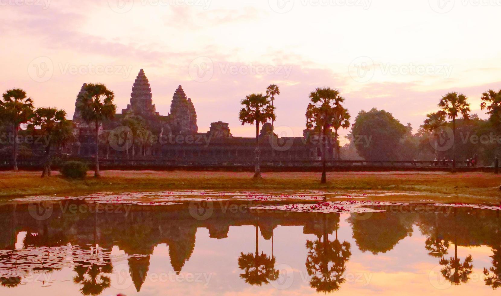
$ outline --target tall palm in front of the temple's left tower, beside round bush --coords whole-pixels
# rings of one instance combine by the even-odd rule
[[[99,173],[99,126],[103,120],[111,119],[115,116],[113,91],[106,88],[106,85],[89,83],[83,87],[77,98],[77,109],[81,112],[82,118],[87,123],[94,122],[96,125],[96,169],[94,177],[100,177]]]

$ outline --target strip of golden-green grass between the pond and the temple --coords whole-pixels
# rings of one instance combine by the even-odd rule
[[[500,176],[490,173],[445,172],[330,172],[327,184],[320,184],[320,173],[263,173],[262,181],[252,173],[102,171],[102,177],[66,180],[40,178],[40,172],[0,172],[0,197],[25,195],[83,194],[95,192],[137,192],[173,189],[198,190],[405,190],[501,200]]]

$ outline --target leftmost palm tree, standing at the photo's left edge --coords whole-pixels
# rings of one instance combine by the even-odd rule
[[[26,97],[26,91],[14,88],[9,89],[3,95],[3,101],[0,100],[2,115],[5,120],[12,124],[14,132],[14,149],[12,153],[14,171],[18,171],[18,132],[21,124],[30,121],[33,115],[33,100]]]

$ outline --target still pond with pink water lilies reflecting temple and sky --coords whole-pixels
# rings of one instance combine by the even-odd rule
[[[395,195],[416,202],[376,201]],[[412,192],[16,199],[0,294],[498,294],[499,210]]]

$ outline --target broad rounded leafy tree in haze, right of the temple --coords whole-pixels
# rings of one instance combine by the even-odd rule
[[[406,126],[391,113],[372,108],[358,113],[351,134],[358,139],[356,147],[361,157],[381,161],[399,158],[399,147],[407,131]]]

